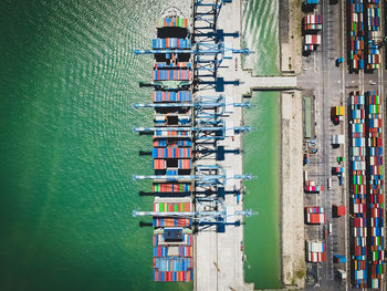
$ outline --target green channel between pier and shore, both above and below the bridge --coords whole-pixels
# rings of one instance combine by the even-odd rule
[[[278,75],[278,1],[254,0],[244,9],[244,31],[252,35],[244,43],[255,50],[253,72]],[[253,41],[253,42],[251,42]],[[249,43],[251,42],[251,43]],[[245,219],[245,281],[255,289],[281,288],[280,257],[280,95],[259,92],[252,96],[257,106],[244,111],[244,123],[257,131],[243,136],[243,168],[258,176],[245,181],[244,208],[259,211]]]

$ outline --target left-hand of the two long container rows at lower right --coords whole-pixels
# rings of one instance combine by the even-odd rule
[[[349,96],[349,195],[352,220],[352,267],[354,285],[367,287],[367,184],[366,184],[366,132],[365,98],[359,92]]]

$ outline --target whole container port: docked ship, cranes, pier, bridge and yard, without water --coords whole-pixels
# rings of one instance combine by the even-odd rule
[[[243,124],[242,108],[250,107],[243,96],[278,90],[284,288],[326,290],[335,281],[346,290],[383,289],[381,2],[302,1],[299,20],[287,19],[287,33],[301,28],[302,35],[280,37],[281,76],[243,70],[241,55],[252,51],[240,49],[241,7],[195,0],[190,18],[170,8],[156,21],[151,49],[135,51],[155,59],[151,82],[140,84],[154,89],[153,102],[134,105],[155,115],[153,127],[134,128],[153,135],[155,173],[134,179],[153,181],[154,208],[134,216],[153,217],[154,280],[194,281],[195,290],[253,290],[243,278],[240,225],[257,214],[243,210],[242,181],[254,177],[243,174],[241,155],[219,156],[230,145],[239,150],[239,135],[253,129]],[[364,83],[373,72],[378,90]]]

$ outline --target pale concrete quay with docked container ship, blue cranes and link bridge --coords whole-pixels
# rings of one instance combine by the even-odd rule
[[[252,76],[243,70],[241,2],[194,0],[191,17],[172,8],[157,20],[150,102],[135,108],[154,111],[154,126],[134,127],[153,135],[154,280],[194,280],[195,290],[253,290],[244,282],[244,179],[242,133],[244,97],[253,91],[297,89],[294,76]],[[219,29],[221,28],[221,30]],[[220,33],[222,31],[222,33]],[[224,32],[223,32],[224,31]],[[254,194],[252,194],[254,195]]]

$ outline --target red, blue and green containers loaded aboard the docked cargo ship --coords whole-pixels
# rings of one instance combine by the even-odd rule
[[[179,61],[176,50],[191,48],[188,38],[188,21],[186,18],[163,18],[157,20],[158,35],[153,40],[154,50],[164,54],[163,62],[155,60],[154,81],[188,81],[191,79],[191,63]],[[172,28],[172,29],[170,29]],[[161,32],[161,33],[160,33]],[[178,35],[176,35],[178,34]],[[163,87],[163,86],[161,86]],[[174,87],[174,86],[167,86]],[[170,181],[169,175],[190,175],[192,168],[192,134],[185,128],[190,126],[192,102],[190,87],[157,89],[153,93],[155,106],[155,126],[151,156],[155,175],[164,178],[153,183],[155,195],[153,217],[154,226],[154,280],[190,282],[194,277],[192,262],[192,220],[189,217],[178,217],[179,212],[194,211],[192,184],[185,180]],[[174,104],[174,106],[168,106]],[[172,127],[178,131],[169,131]],[[169,127],[163,129],[163,127]],[[170,215],[169,215],[170,214]]]

